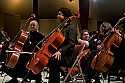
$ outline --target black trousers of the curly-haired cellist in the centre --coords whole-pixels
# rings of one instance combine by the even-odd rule
[[[60,83],[60,69],[61,67],[72,67],[74,60],[68,59],[68,57],[61,57],[61,60],[57,60],[51,57],[48,62],[49,66],[49,83]]]

